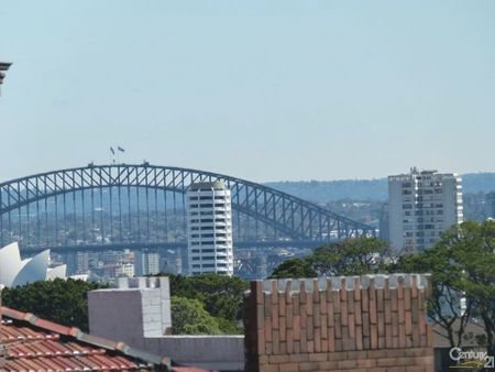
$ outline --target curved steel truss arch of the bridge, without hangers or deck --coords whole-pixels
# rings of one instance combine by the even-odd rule
[[[230,188],[234,210],[272,226],[294,240],[321,242],[375,236],[371,226],[264,185],[212,172],[147,163],[89,164],[1,183],[0,217],[32,203],[78,190],[144,187],[185,194],[191,183],[212,180],[221,180]]]

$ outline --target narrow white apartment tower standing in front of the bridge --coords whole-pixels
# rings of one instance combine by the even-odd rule
[[[189,274],[233,274],[232,206],[221,182],[191,184],[187,192]]]

